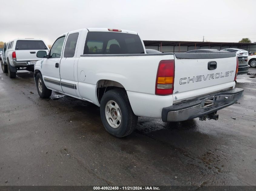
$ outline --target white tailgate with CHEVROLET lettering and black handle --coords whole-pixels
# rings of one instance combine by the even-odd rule
[[[232,87],[235,71],[235,53],[175,53],[174,101]]]

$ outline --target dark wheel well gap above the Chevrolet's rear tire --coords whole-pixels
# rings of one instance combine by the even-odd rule
[[[112,80],[100,80],[97,85],[97,97],[99,103],[101,103],[102,96],[109,90],[124,89],[124,86],[117,81]]]

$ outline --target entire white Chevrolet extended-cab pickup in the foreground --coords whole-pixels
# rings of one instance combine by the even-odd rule
[[[100,107],[105,129],[131,134],[138,116],[218,119],[242,96],[235,53],[146,53],[138,33],[88,28],[64,33],[35,64],[38,94],[53,91]],[[45,56],[42,56],[44,55]],[[85,108],[86,109],[86,108]]]

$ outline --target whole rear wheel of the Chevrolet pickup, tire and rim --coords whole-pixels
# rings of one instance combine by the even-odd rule
[[[107,91],[100,105],[101,120],[105,129],[115,137],[130,135],[138,122],[126,92],[122,89]]]

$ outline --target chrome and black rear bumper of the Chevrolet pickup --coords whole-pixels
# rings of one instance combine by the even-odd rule
[[[162,121],[185,121],[206,116],[236,103],[243,91],[241,88],[219,91],[165,107],[162,109]]]

